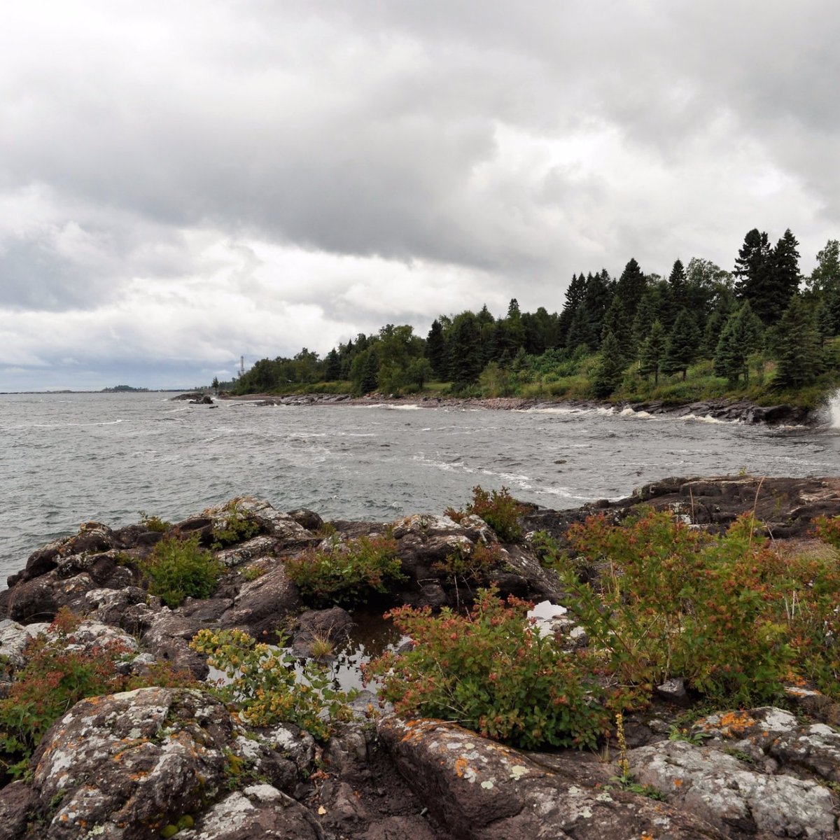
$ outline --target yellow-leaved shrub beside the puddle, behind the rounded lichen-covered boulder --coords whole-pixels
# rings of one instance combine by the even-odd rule
[[[334,690],[326,671],[317,665],[300,665],[295,657],[255,642],[248,633],[200,630],[190,647],[224,672],[228,683],[214,691],[223,701],[239,706],[252,726],[296,723],[326,741],[334,720],[349,719],[347,702],[358,692]]]

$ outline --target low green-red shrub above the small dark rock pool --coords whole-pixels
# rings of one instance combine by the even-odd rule
[[[314,606],[365,602],[403,578],[391,537],[359,537],[333,541],[328,549],[308,549],[286,559],[286,571]]]

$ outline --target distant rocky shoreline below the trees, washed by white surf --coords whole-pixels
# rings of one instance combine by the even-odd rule
[[[200,394],[184,394],[176,399],[197,401]],[[412,397],[350,396],[349,394],[249,394],[245,396],[222,395],[219,399],[236,402],[254,402],[260,406],[387,406],[445,407],[453,409],[484,408],[494,411],[535,411],[540,409],[566,409],[587,411],[602,409],[613,412],[646,412],[656,416],[710,418],[730,423],[766,423],[770,426],[817,425],[824,422],[822,412],[780,403],[775,406],[759,406],[750,400],[703,400],[681,405],[664,402],[598,402],[596,400],[537,400],[514,396],[498,397]]]

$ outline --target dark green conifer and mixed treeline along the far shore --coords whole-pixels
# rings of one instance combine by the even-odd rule
[[[501,318],[486,306],[440,315],[425,338],[387,324],[323,359],[303,348],[260,360],[234,391],[349,383],[356,394],[391,394],[435,381],[476,396],[651,396],[660,376],[696,375],[706,390],[732,391],[749,386],[751,373],[764,388],[801,389],[836,366],[840,243],[827,242],[807,278],[797,248],[790,229],[771,245],[756,228],[732,272],[695,258],[675,260],[664,278],[631,259],[617,279],[606,270],[573,275],[559,313],[522,312],[513,299]]]

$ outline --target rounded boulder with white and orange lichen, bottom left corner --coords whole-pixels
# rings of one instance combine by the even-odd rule
[[[147,688],[73,706],[33,758],[26,837],[145,840],[223,790],[233,718],[196,690]]]

